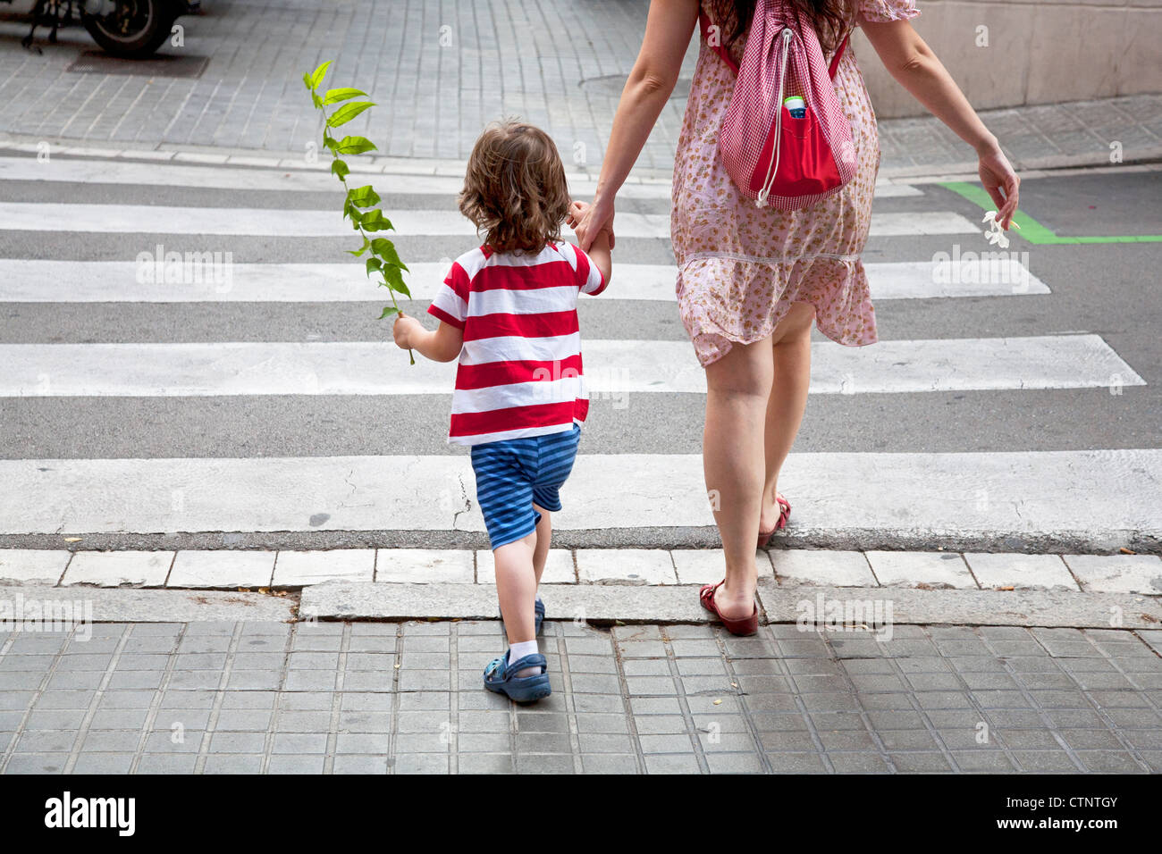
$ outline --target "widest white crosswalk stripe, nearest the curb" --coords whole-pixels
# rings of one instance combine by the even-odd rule
[[[0,480],[3,532],[483,530],[462,455],[0,460]],[[1156,450],[797,453],[781,482],[820,531],[1162,533],[1141,501],[1162,491]],[[698,454],[582,454],[566,504],[554,528],[713,524]]]

